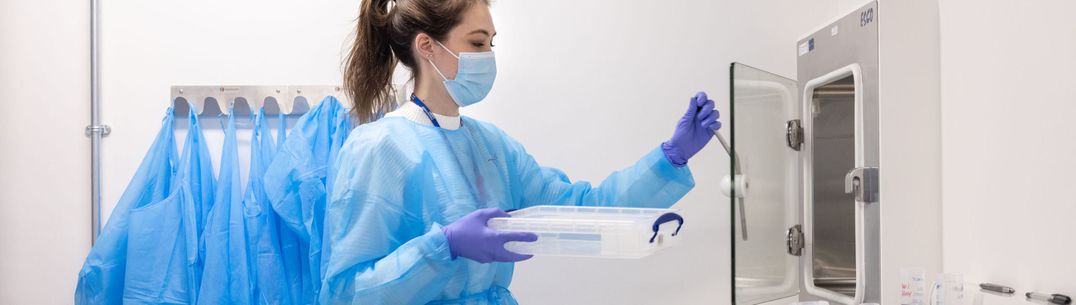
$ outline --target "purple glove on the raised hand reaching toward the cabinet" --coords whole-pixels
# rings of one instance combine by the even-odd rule
[[[706,93],[698,93],[691,98],[688,112],[680,117],[672,138],[662,143],[665,157],[677,167],[688,165],[688,160],[710,142],[713,133],[721,128],[721,114],[713,109],[713,100]]]

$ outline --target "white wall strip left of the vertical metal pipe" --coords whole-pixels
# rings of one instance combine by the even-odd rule
[[[70,304],[89,250],[87,12],[0,1],[0,304]]]

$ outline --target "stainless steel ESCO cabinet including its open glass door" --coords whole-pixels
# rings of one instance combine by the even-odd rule
[[[798,81],[732,65],[735,304],[879,302],[878,17],[799,41]]]

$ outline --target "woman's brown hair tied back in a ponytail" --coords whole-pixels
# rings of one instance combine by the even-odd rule
[[[343,86],[354,103],[352,114],[359,123],[395,108],[388,97],[396,63],[417,74],[411,53],[415,36],[424,32],[443,40],[477,2],[489,4],[489,0],[363,0],[343,72]]]

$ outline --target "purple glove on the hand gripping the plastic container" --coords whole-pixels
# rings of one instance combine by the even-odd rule
[[[526,232],[501,232],[490,228],[486,222],[495,217],[511,217],[497,208],[473,211],[449,225],[444,238],[449,240],[452,258],[464,257],[479,263],[519,262],[534,255],[505,250],[508,241],[535,241],[538,235]]]

